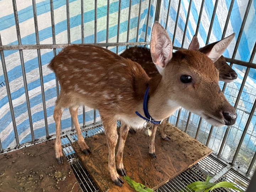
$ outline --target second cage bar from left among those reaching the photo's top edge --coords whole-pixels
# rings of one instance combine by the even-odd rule
[[[36,32],[36,44],[40,44],[39,43],[39,34],[38,34],[38,25],[37,25],[36,0],[32,0],[32,6],[33,6],[33,16],[34,16],[34,27],[35,27],[35,32]],[[41,51],[40,51],[40,49],[37,49],[37,58],[38,58],[38,68],[39,68],[40,83],[41,83],[42,103],[43,103],[43,111],[44,111],[44,123],[45,123],[45,128],[46,128],[46,138],[49,139],[47,113],[46,113],[46,101],[45,101],[45,96],[44,96],[43,71],[42,71],[42,62],[41,62]]]

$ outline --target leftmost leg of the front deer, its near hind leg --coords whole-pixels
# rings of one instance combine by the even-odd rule
[[[63,111],[64,111],[64,108],[60,107],[56,102],[56,106],[53,112],[53,118],[56,125],[56,140],[54,144],[54,149],[55,149],[55,157],[58,164],[63,163],[62,145],[60,141],[60,120],[61,120]]]

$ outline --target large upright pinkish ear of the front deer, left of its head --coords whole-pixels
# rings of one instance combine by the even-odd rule
[[[157,21],[154,22],[152,28],[150,52],[152,60],[161,74],[162,69],[172,58],[172,42],[167,31]]]

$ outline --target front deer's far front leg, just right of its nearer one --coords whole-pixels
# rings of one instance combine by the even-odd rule
[[[119,140],[119,146],[117,150],[117,155],[116,155],[116,161],[117,161],[117,172],[121,176],[126,176],[126,170],[124,169],[123,166],[123,150],[124,150],[124,143],[126,141],[126,137],[129,132],[129,126],[127,126],[124,123],[121,123],[120,127],[120,140]]]

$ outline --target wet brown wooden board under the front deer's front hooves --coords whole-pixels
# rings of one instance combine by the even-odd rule
[[[150,138],[143,132],[129,133],[124,147],[123,164],[127,175],[135,182],[154,190],[212,152],[169,123],[166,123],[165,130],[171,141],[163,140],[160,134],[156,133],[156,159],[152,159],[148,153]],[[89,155],[82,153],[78,143],[75,142],[72,146],[101,191],[134,191],[127,182],[123,187],[118,187],[111,181],[108,174],[106,140],[103,134],[86,138],[85,142],[92,151]]]

